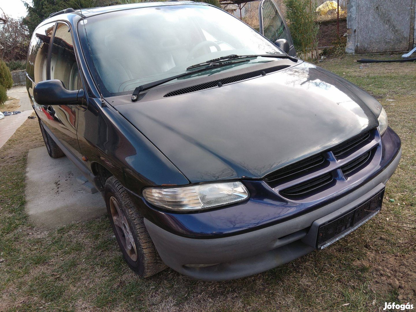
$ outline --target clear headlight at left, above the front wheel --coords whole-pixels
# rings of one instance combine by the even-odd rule
[[[175,211],[194,211],[244,201],[249,194],[240,181],[203,183],[180,187],[150,187],[143,197],[154,206]]]

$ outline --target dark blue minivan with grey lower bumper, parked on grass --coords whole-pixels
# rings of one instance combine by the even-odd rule
[[[273,0],[259,19],[258,32],[205,3],[150,2],[67,9],[32,35],[47,151],[102,193],[140,276],[263,272],[381,209],[401,157],[381,104],[298,59]]]

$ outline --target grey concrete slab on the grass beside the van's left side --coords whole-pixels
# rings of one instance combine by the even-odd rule
[[[26,212],[37,225],[60,228],[106,213],[101,193],[84,191],[82,173],[67,157],[51,158],[45,146],[30,149],[26,169]]]

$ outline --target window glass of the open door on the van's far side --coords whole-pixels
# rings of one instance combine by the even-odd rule
[[[265,1],[262,5],[263,17],[263,35],[271,42],[277,39],[286,39],[290,42],[292,38],[289,37],[285,22],[280,17],[275,5],[272,1]]]

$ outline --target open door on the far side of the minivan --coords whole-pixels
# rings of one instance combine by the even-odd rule
[[[259,5],[260,34],[271,42],[286,39],[289,42],[289,55],[296,56],[292,36],[286,20],[273,0],[262,0]]]

